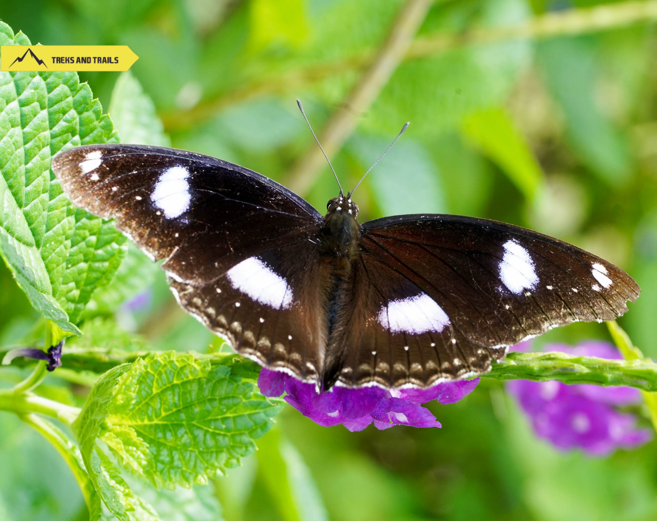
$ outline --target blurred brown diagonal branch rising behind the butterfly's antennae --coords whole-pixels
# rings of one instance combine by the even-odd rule
[[[415,33],[422,25],[431,4],[432,0],[408,0],[405,3],[371,64],[321,131],[319,142],[328,157],[342,148],[342,144],[355,129],[359,115],[367,112],[388,83],[392,73],[411,47]],[[313,142],[306,154],[292,168],[286,186],[292,192],[305,194],[325,166],[324,155]]]

